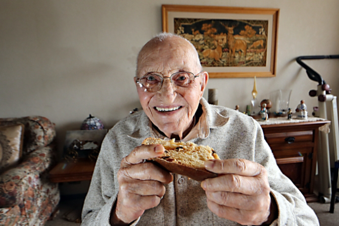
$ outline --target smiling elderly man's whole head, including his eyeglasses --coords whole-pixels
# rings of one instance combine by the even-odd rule
[[[151,122],[166,137],[182,140],[194,125],[208,73],[202,71],[190,43],[178,37],[163,39],[142,48],[134,81],[139,84],[139,100]]]

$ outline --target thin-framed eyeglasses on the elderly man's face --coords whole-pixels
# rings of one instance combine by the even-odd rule
[[[201,72],[194,75],[192,72],[181,71],[173,73],[170,77],[164,78],[157,73],[150,72],[146,74],[146,76],[137,79],[136,83],[138,83],[140,87],[144,86],[149,92],[159,91],[163,86],[165,79],[170,79],[172,85],[189,87],[191,86],[193,80],[200,76]]]

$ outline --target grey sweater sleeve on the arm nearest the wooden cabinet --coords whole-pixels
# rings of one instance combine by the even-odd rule
[[[266,168],[271,194],[278,207],[278,218],[271,225],[319,225],[314,211],[307,205],[303,194],[277,166],[273,153],[264,139],[261,126],[256,121],[254,125],[255,161]]]

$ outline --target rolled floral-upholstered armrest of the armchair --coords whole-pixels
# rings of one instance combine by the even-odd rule
[[[55,161],[55,150],[46,146],[34,150],[22,163],[0,175],[0,207],[14,206],[22,202],[24,194],[41,179]]]

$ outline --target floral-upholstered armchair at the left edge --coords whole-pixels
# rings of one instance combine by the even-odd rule
[[[17,160],[6,165],[12,157],[5,153],[14,147],[8,131],[15,125],[23,127],[22,148],[13,149]],[[56,209],[58,186],[47,178],[56,161],[54,138],[54,124],[47,118],[0,118],[0,225],[44,225]]]

